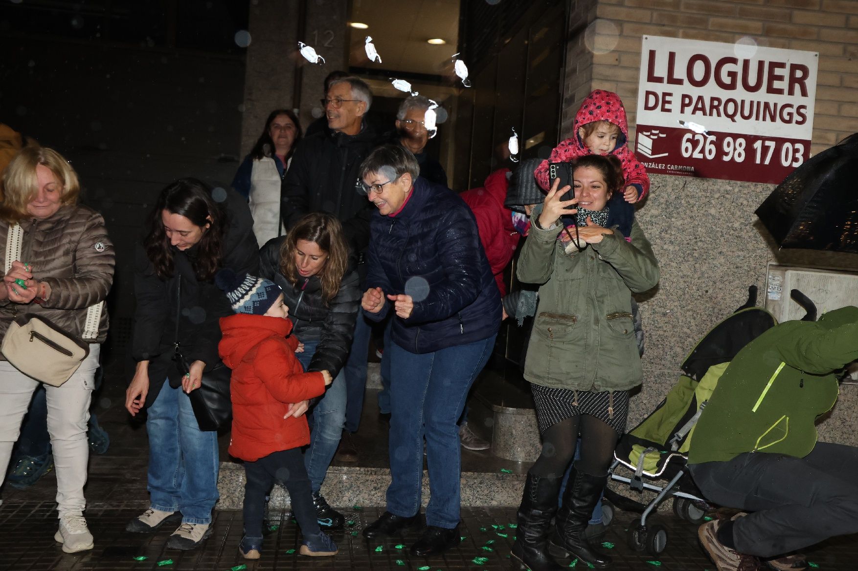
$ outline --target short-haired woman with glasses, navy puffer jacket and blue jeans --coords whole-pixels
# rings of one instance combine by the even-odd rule
[[[474,215],[418,172],[414,155],[396,145],[360,165],[361,188],[378,208],[361,306],[372,320],[393,314],[384,349],[393,373],[391,482],[386,511],[363,533],[375,538],[418,522],[425,438],[431,497],[411,553],[432,556],[460,541],[456,420],[492,352],[501,305]]]

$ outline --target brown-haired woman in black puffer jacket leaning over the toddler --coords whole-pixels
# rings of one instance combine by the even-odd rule
[[[259,275],[280,285],[293,334],[304,344],[298,358],[307,372],[328,370],[334,382],[313,407],[310,447],[304,456],[319,525],[342,527],[345,518],[319,490],[346,423],[346,383],[341,370],[352,345],[360,279],[350,265],[342,225],[333,214],[302,216],[285,237],[259,253]],[[295,403],[290,414],[307,411]]]

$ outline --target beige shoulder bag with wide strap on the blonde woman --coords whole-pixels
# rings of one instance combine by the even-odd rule
[[[21,258],[21,243],[24,232],[20,225],[9,226],[6,240],[6,270],[12,261]],[[33,313],[15,317],[3,337],[3,357],[24,375],[33,377],[52,387],[59,387],[69,380],[83,359],[89,355],[88,341],[99,334],[99,322],[104,302],[91,305],[87,310],[87,321],[83,338],[70,334],[51,320]]]

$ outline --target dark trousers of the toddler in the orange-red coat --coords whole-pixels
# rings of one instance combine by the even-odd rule
[[[307,478],[300,448],[281,450],[255,462],[245,462],[245,477],[245,535],[248,538],[263,537],[265,496],[275,482],[286,486],[292,502],[292,514],[298,520],[301,532],[305,536],[320,532],[310,478]]]

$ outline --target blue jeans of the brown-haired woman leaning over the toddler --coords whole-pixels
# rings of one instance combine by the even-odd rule
[[[304,365],[305,370],[310,366],[318,344],[318,341],[304,341],[304,352],[295,353],[295,357]],[[346,381],[340,371],[312,410],[310,447],[304,454],[304,465],[314,492],[322,488],[330,461],[334,459],[336,447],[340,445],[342,428],[345,424]]]

